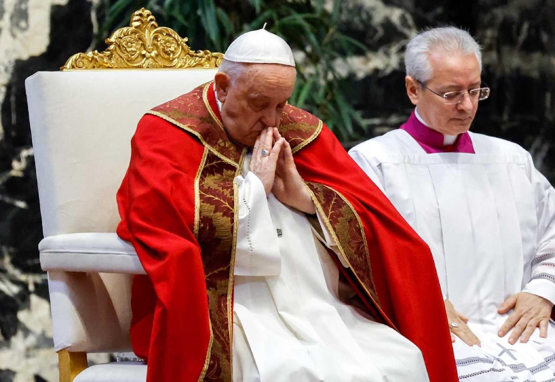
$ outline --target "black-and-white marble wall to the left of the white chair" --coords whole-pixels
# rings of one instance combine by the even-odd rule
[[[57,381],[24,80],[89,48],[92,3],[0,0],[0,381]]]

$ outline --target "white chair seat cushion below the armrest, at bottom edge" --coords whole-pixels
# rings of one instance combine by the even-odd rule
[[[112,362],[90,366],[73,382],[145,382],[147,365],[143,362]]]

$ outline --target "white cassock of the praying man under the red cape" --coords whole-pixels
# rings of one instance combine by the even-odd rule
[[[235,179],[233,380],[428,381],[415,345],[341,302],[339,270],[321,243],[334,242],[304,213],[266,198],[249,162]]]

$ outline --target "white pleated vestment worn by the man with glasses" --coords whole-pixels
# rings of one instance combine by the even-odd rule
[[[539,328],[526,344],[497,335],[513,294],[555,302],[555,190],[522,147],[469,134],[476,154],[426,154],[401,129],[349,154],[430,246],[443,298],[481,340],[453,344],[460,380],[555,381],[552,321],[547,339]]]

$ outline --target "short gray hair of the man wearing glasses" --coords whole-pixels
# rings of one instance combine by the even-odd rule
[[[482,52],[480,45],[466,30],[456,27],[427,29],[418,33],[407,44],[405,50],[405,69],[407,75],[422,83],[432,78],[432,67],[428,55],[433,50],[446,54],[475,54],[482,71]]]

